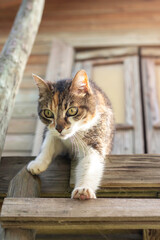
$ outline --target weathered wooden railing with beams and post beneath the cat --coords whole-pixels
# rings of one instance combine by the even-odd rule
[[[35,231],[105,234],[109,229],[141,229],[144,240],[160,239],[160,155],[109,156],[98,199],[85,202],[69,199],[74,185],[69,159],[57,158],[40,177],[26,171],[31,159],[2,158],[1,198],[9,185],[1,213],[5,240],[33,240]]]

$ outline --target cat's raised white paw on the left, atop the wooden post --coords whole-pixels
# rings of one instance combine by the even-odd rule
[[[28,166],[27,170],[32,173],[33,175],[38,175],[41,172],[44,172],[47,169],[48,165],[44,163],[44,161],[38,160],[36,158],[34,161],[31,161]]]

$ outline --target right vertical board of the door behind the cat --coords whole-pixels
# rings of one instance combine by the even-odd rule
[[[140,95],[139,59],[137,56],[124,60],[126,86],[126,123],[134,126],[133,153],[144,152],[142,107]]]

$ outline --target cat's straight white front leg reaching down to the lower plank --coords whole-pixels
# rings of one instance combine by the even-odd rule
[[[78,162],[75,188],[71,197],[80,200],[96,198],[95,191],[100,184],[103,168],[103,157],[96,150],[90,149]]]

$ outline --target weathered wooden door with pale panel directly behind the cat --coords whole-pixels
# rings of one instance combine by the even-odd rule
[[[112,102],[116,121],[112,154],[143,153],[139,57],[136,49],[77,51],[72,76],[79,69],[85,69]]]

